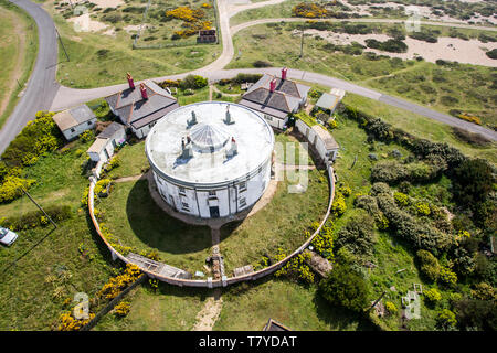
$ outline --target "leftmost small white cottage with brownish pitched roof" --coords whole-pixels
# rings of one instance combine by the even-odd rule
[[[85,104],[55,114],[53,120],[67,141],[75,139],[86,130],[95,128],[97,121],[95,114]]]

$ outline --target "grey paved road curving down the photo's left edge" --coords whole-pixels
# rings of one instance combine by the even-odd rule
[[[38,57],[24,95],[0,131],[0,154],[28,121],[39,110],[51,107],[59,84],[55,82],[57,39],[52,18],[39,6],[28,0],[9,0],[25,10],[36,22]]]

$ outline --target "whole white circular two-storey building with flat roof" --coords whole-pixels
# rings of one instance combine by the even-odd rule
[[[274,135],[254,110],[204,101],[168,113],[145,143],[157,189],[178,212],[235,215],[269,184]]]

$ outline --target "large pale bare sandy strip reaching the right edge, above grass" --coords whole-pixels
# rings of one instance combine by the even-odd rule
[[[330,43],[340,45],[351,44],[352,42],[366,45],[367,39],[376,39],[381,42],[390,39],[387,34],[346,34],[318,30],[306,30],[306,33],[319,35]],[[422,56],[431,63],[442,58],[464,64],[497,67],[497,61],[489,58],[485,54],[485,52],[496,49],[497,43],[482,43],[478,40],[464,41],[458,38],[447,36],[438,38],[437,43],[427,43],[408,36],[404,43],[409,46],[406,53],[388,53],[373,49],[367,49],[366,51],[389,55],[391,57],[401,57],[403,60]]]

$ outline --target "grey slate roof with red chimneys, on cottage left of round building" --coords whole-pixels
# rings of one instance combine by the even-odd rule
[[[147,81],[144,85],[148,96],[146,100],[141,97],[139,85],[135,89],[126,88],[105,98],[123,122],[135,129],[158,120],[179,107],[176,98],[156,83]]]

